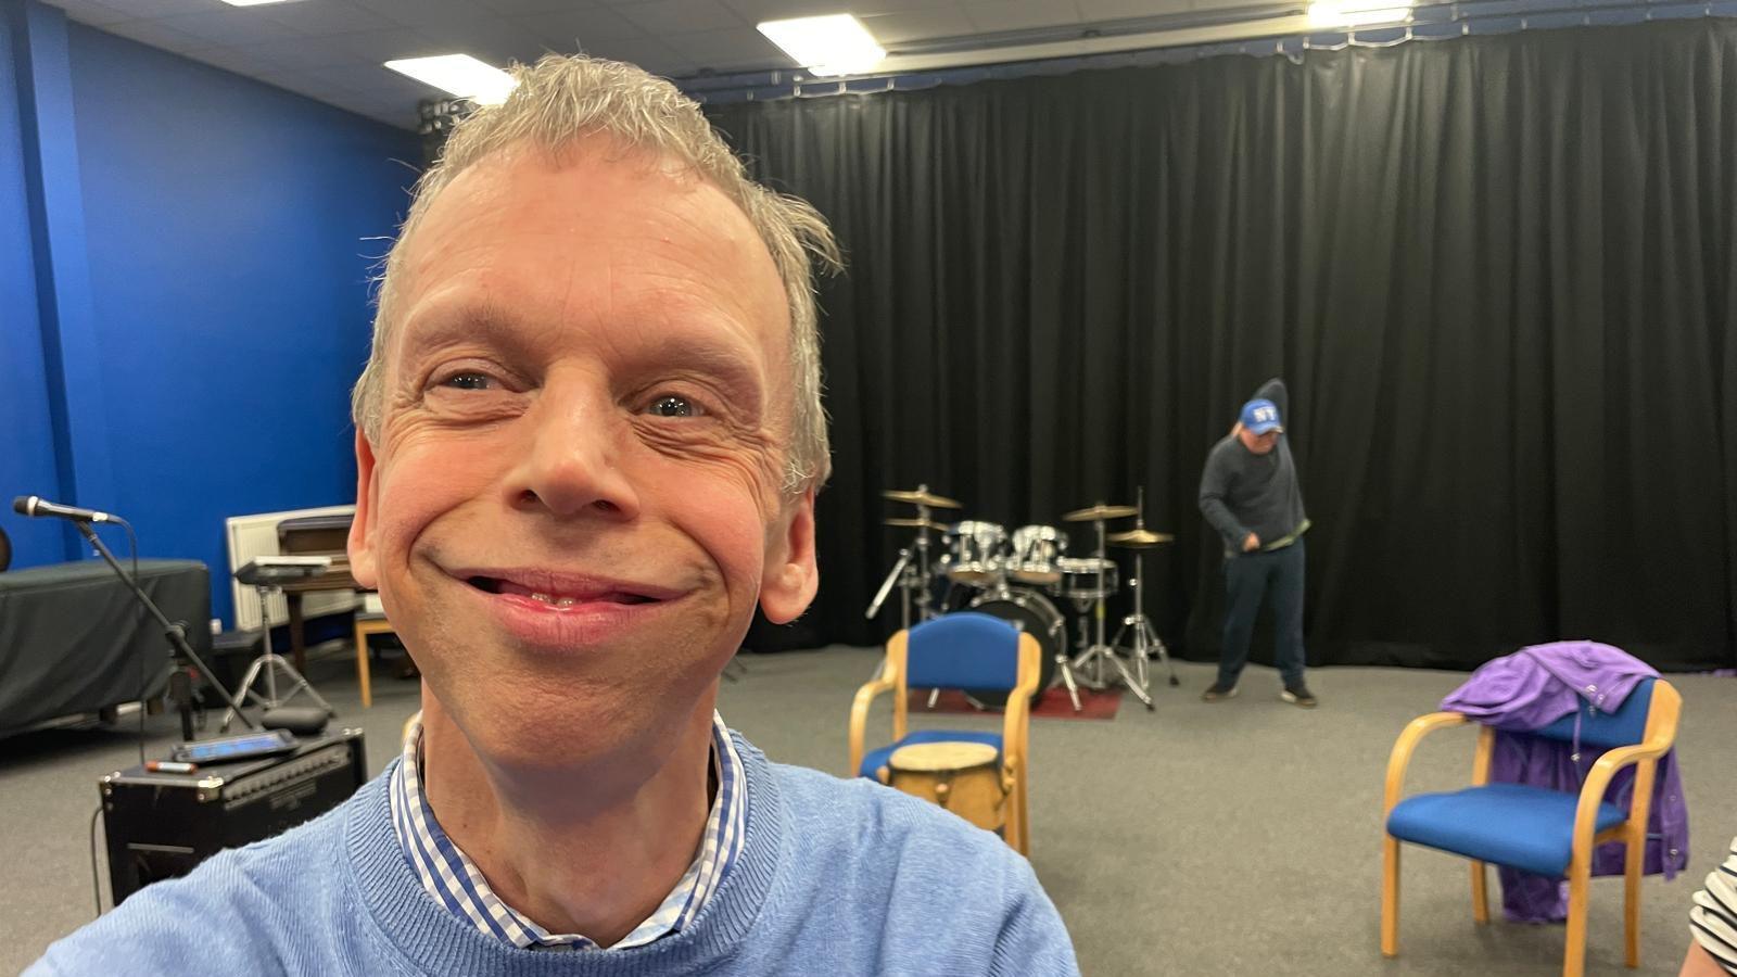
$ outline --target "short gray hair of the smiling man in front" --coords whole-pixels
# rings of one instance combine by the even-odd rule
[[[632,64],[585,56],[549,54],[535,66],[512,66],[518,87],[499,106],[464,118],[448,137],[439,160],[417,179],[410,214],[386,256],[373,349],[351,391],[351,417],[370,442],[379,442],[386,386],[386,346],[398,316],[396,280],[403,243],[424,219],[431,202],[466,169],[514,144],[558,151],[585,136],[672,158],[733,200],[771,252],[790,309],[790,370],[794,403],[790,443],[783,457],[785,492],[802,492],[827,480],[827,414],[820,405],[820,329],[816,325],[813,264],[841,268],[839,247],[827,219],[796,196],[775,193],[747,176],[742,160],[676,85]]]

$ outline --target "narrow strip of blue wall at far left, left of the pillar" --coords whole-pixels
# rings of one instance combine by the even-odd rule
[[[36,318],[14,40],[17,31],[0,17],[0,528],[12,541],[12,565],[28,567],[61,560],[64,541],[59,525],[12,515],[12,495],[59,487]]]

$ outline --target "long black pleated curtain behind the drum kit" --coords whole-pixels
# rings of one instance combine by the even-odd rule
[[[1145,485],[1179,535],[1148,612],[1216,655],[1200,464],[1282,376],[1311,664],[1558,638],[1734,664],[1732,23],[709,113],[849,252],[822,287],[822,638],[896,619],[862,617],[900,541],[881,518],[908,515],[882,487],[1011,528]]]

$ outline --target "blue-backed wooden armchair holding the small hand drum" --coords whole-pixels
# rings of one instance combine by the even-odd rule
[[[985,742],[1001,754],[1007,793],[1006,840],[1021,855],[1030,848],[1027,822],[1027,758],[1030,749],[1032,695],[1037,694],[1040,648],[1037,638],[988,614],[959,612],[924,621],[893,635],[886,643],[881,676],[856,690],[851,702],[849,761],[858,777],[888,782],[893,751],[919,742]],[[910,730],[910,688],[995,688],[1009,690],[1002,732]],[[893,694],[893,742],[863,751],[868,706],[882,692]]]

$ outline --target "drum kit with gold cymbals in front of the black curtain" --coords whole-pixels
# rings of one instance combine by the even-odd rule
[[[938,511],[964,506],[929,492],[928,485],[888,488],[881,495],[915,506],[917,515],[884,520],[889,527],[910,528],[914,534],[910,544],[898,551],[898,560],[868,605],[868,619],[881,614],[888,596],[898,589],[902,628],[948,610],[976,610],[1009,621],[1032,633],[1044,650],[1037,695],[1060,680],[1068,688],[1075,713],[1080,711],[1080,685],[1108,688],[1113,681],[1120,681],[1152,709],[1148,657],[1160,659],[1169,668],[1171,685],[1179,685],[1169,648],[1159,640],[1145,608],[1145,553],[1174,537],[1146,528],[1143,488],[1136,506],[1098,502],[1061,516],[1063,523],[1091,523],[1096,548],[1089,556],[1068,556],[1068,534],[1054,525],[1025,525],[1009,534],[992,522],[941,522],[936,518]],[[1110,522],[1129,516],[1136,520],[1134,528],[1108,532]],[[1120,567],[1110,558],[1110,546],[1134,555],[1134,574],[1127,581],[1134,612],[1122,619],[1113,636],[1105,633],[1106,607],[1122,588]],[[1067,607],[1072,607],[1072,614]],[[1070,617],[1075,622],[1072,643],[1067,635]],[[969,697],[980,708],[1001,708],[1007,701],[1006,692],[990,690],[971,692]],[[931,694],[929,706],[933,704]]]

